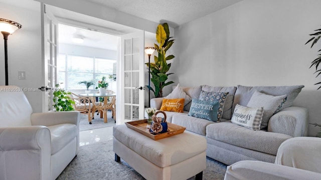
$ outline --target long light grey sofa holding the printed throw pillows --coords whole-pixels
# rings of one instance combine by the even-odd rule
[[[188,115],[191,102],[184,106],[183,113],[166,111],[169,122],[185,126],[187,130],[205,136],[207,156],[225,164],[230,165],[240,160],[273,163],[277,149],[283,141],[307,135],[307,109],[292,106],[303,85],[230,87],[201,85],[181,88],[192,98],[199,98],[202,90],[229,92],[224,103],[222,118],[217,122]],[[287,94],[284,108],[271,116],[267,130],[251,130],[230,120],[236,104],[246,106],[255,90],[270,95]],[[166,97],[151,99],[151,107],[161,108],[163,98]]]

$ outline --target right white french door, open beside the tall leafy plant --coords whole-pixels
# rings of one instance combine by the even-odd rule
[[[144,31],[120,40],[117,124],[144,118]]]

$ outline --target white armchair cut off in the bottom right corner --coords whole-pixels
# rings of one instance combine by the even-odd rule
[[[279,146],[274,164],[238,161],[227,166],[224,179],[321,179],[320,149],[319,137],[293,137]]]

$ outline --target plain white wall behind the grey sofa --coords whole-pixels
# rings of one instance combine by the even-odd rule
[[[309,122],[321,123],[321,91],[310,62],[319,43],[304,43],[321,25],[320,0],[243,0],[175,29],[173,63],[183,86],[298,85],[295,105],[307,107]],[[319,128],[309,125],[309,135]]]

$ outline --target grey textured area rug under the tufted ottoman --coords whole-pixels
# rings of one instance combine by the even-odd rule
[[[145,179],[122,159],[114,160],[112,140],[80,146],[78,155],[69,163],[56,180],[100,180],[100,179]],[[226,165],[212,158],[206,158],[205,180],[222,180]],[[195,179],[194,177],[189,180]]]

